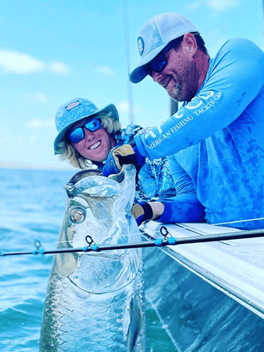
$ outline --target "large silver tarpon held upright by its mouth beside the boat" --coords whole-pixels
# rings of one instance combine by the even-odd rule
[[[87,246],[87,235],[102,246],[141,241],[130,213],[134,166],[124,165],[111,177],[84,170],[65,186],[58,248]],[[141,250],[56,254],[39,351],[146,351]]]

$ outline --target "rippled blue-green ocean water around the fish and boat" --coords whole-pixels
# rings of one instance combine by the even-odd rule
[[[0,169],[0,251],[55,249],[74,170]],[[53,256],[0,256],[0,351],[38,351]],[[155,258],[153,258],[155,260]],[[152,262],[155,264],[155,262]],[[148,279],[146,277],[146,279]],[[147,301],[147,351],[175,352]]]

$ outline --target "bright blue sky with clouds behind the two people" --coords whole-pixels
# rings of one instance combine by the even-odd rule
[[[234,37],[263,48],[262,0],[1,1],[0,165],[67,166],[54,156],[54,115],[62,103],[78,96],[99,108],[114,103],[126,126],[125,43],[132,69],[139,61],[139,28],[165,12],[192,20],[211,57]],[[150,77],[132,84],[132,94],[135,123],[146,127],[168,118],[168,95]]]

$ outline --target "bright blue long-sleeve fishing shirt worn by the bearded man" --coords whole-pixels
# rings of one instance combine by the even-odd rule
[[[161,199],[161,222],[264,227],[255,220],[264,218],[263,51],[246,39],[227,41],[196,96],[135,142],[150,159],[170,156],[177,196]]]

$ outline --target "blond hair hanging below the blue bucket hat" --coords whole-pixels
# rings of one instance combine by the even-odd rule
[[[119,120],[111,118],[111,115],[112,113],[98,113],[94,114],[92,117],[100,118],[102,126],[106,128],[111,137],[114,137],[115,134],[121,133],[121,124]],[[70,145],[66,137],[62,142],[58,143],[58,157],[62,161],[68,161],[70,165],[73,165],[75,168],[96,168],[93,161],[81,156],[81,154]]]

